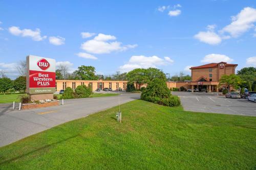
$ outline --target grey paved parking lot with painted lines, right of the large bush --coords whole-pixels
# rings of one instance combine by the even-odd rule
[[[226,99],[225,96],[202,92],[173,92],[181,99],[186,111],[256,116],[256,103],[246,99]]]

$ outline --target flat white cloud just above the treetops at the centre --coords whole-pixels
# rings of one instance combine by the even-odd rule
[[[131,71],[135,68],[149,68],[160,65],[168,65],[174,61],[169,57],[164,57],[164,59],[157,56],[146,57],[146,56],[132,56],[127,64],[124,64],[119,67],[119,70],[122,72]]]

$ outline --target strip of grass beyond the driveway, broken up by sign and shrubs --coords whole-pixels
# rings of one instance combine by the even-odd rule
[[[19,102],[19,96],[22,94],[0,94],[0,103],[12,103]],[[62,94],[57,94],[58,99],[61,98]],[[118,93],[93,93],[91,98],[98,98],[98,97],[107,97],[107,96],[114,96],[118,95]]]

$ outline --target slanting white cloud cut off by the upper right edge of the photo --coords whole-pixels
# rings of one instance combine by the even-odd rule
[[[256,22],[256,9],[246,7],[237,16],[231,17],[232,22],[221,30],[221,33],[229,33],[232,37],[239,37],[249,29],[253,28]]]

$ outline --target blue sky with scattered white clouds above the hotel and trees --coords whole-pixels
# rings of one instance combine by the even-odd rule
[[[103,75],[256,66],[256,1],[1,1],[0,21],[0,69],[11,78],[27,55]]]

